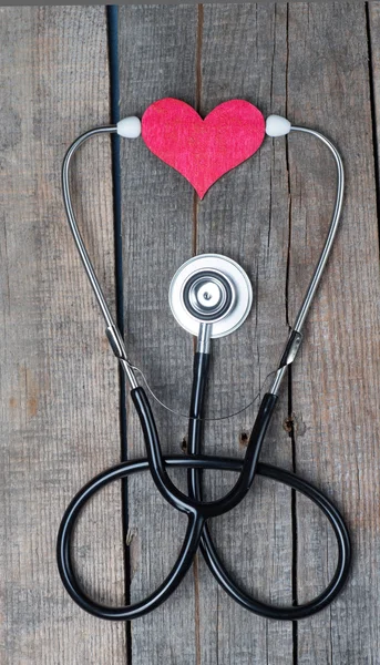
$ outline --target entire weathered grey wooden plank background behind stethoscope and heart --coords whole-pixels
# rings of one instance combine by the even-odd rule
[[[199,559],[164,606],[132,625],[101,623],[64,593],[54,546],[70,498],[120,459],[125,424],[129,457],[144,454],[60,191],[68,145],[110,122],[115,34],[105,7],[13,7],[0,17],[1,663],[378,665],[380,2],[119,9],[121,116],[166,95],[202,115],[243,98],[321,130],[345,157],[341,229],[263,453],[333,498],[352,534],[346,590],[298,624],[250,615]],[[122,143],[120,168],[119,202],[109,140],[83,149],[75,206],[114,307],[119,293],[130,356],[162,399],[185,410],[193,344],[170,314],[168,284],[194,254],[232,256],[251,278],[255,304],[247,324],[214,345],[208,413],[238,410],[274,368],[310,277],[333,204],[333,164],[311,139],[267,140],[203,202],[141,141]],[[185,419],[155,412],[164,450],[178,452]],[[205,450],[242,456],[254,416],[250,408],[207,423]],[[218,473],[206,480],[209,497],[232,483]],[[114,487],[76,533],[83,583],[107,602],[154,589],[184,533],[148,477],[127,490],[124,523]],[[275,603],[310,598],[333,570],[325,518],[269,481],[257,480],[213,533],[236,577]]]

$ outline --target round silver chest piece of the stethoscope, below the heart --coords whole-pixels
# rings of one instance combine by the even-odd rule
[[[253,289],[248,276],[232,258],[202,254],[184,263],[174,275],[168,301],[173,316],[192,335],[210,326],[210,337],[225,337],[247,318]]]

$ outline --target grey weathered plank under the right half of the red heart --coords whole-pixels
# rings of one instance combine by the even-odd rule
[[[202,35],[201,114],[228,99],[246,99],[263,111],[284,113],[286,101],[286,7],[205,4]],[[242,48],[242,45],[244,45]],[[248,403],[275,369],[288,334],[287,164],[285,143],[266,140],[260,151],[218,181],[197,204],[196,252],[217,252],[237,260],[254,286],[247,323],[215,340],[209,411],[234,412]],[[268,382],[266,382],[266,388]],[[263,459],[291,468],[291,442],[283,428],[284,390]],[[249,432],[257,405],[229,420],[210,422],[205,449],[243,454],[240,432]],[[206,474],[209,495],[226,493],[232,478]],[[228,569],[256,597],[291,604],[290,492],[255,482],[248,498],[212,526]],[[267,622],[234,603],[199,561],[199,662],[292,663],[290,624]]]

